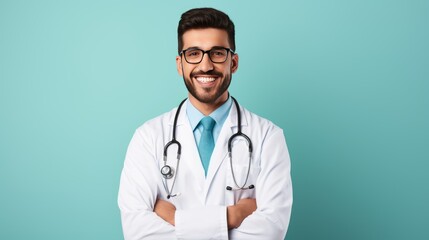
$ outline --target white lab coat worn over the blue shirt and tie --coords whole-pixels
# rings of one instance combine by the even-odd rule
[[[227,191],[234,184],[227,143],[237,132],[237,109],[231,107],[211,156],[207,177],[183,104],[176,130],[182,155],[173,194],[175,226],[153,212],[157,198],[166,199],[160,174],[164,145],[171,140],[176,109],[143,124],[128,147],[122,171],[118,204],[126,240],[131,239],[283,239],[292,207],[290,159],[283,130],[241,108],[242,132],[253,142],[251,190]],[[176,168],[177,148],[168,150],[167,164]],[[245,181],[248,149],[244,139],[234,140],[233,168],[237,183]],[[172,179],[167,181],[169,187]],[[256,198],[257,210],[240,227],[228,231],[226,207],[242,198]]]

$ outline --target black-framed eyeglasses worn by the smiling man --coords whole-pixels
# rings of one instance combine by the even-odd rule
[[[203,61],[204,54],[206,53],[213,63],[224,63],[226,59],[228,59],[229,52],[231,52],[231,54],[235,54],[234,51],[232,51],[230,48],[224,47],[216,47],[207,51],[198,48],[188,48],[182,50],[179,55],[183,54],[186,62],[190,64],[198,64]]]

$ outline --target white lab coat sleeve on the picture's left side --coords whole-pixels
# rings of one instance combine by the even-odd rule
[[[140,130],[140,129],[139,129]],[[175,228],[165,222],[153,207],[157,199],[157,175],[154,144],[149,135],[137,130],[125,157],[118,205],[125,240],[176,239]]]

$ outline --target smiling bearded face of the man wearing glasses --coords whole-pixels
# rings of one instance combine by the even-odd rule
[[[230,48],[225,30],[206,28],[186,31],[183,49],[199,48],[204,51],[215,47]],[[193,103],[220,105],[228,98],[228,87],[232,73],[238,68],[238,55],[228,53],[224,63],[213,63],[208,54],[198,64],[186,62],[183,54],[176,57],[177,71],[183,76],[189,98]]]

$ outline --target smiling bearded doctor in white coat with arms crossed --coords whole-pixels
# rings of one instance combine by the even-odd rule
[[[238,68],[234,35],[216,9],[182,15],[176,64],[188,98],[131,140],[118,196],[126,240],[285,237],[288,149],[282,129],[228,92]]]

